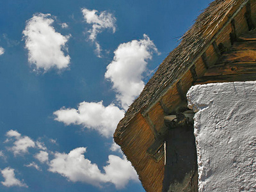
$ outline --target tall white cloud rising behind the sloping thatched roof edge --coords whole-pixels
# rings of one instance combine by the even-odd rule
[[[142,75],[153,52],[157,52],[157,48],[145,34],[142,40],[120,44],[115,50],[115,56],[107,67],[105,77],[113,83],[117,92],[116,99],[121,102],[122,108],[127,109],[143,90],[145,84]]]

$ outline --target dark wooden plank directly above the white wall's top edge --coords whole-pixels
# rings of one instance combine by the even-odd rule
[[[230,74],[227,76],[204,76],[196,81],[195,84],[225,83],[234,81],[255,81],[256,73],[252,74]]]

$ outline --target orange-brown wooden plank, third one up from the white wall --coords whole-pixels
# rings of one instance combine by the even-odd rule
[[[227,52],[221,56],[217,63],[241,63],[256,62],[256,50],[243,50]]]

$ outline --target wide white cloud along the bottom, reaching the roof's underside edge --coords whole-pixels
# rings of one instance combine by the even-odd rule
[[[111,182],[116,188],[124,188],[129,180],[138,180],[131,163],[118,156],[109,156],[108,165],[104,166],[105,173],[100,172],[97,164],[84,158],[86,148],[79,147],[68,154],[56,153],[49,163],[49,171],[60,173],[72,182],[86,182],[94,186]]]

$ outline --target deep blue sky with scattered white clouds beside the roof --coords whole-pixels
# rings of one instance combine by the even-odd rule
[[[209,3],[0,0],[0,191],[144,191],[113,131]]]

